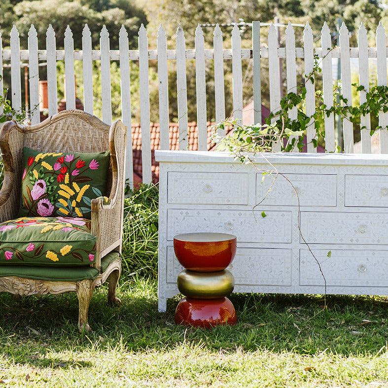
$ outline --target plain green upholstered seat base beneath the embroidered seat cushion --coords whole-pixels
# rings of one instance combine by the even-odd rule
[[[118,252],[110,252],[101,260],[102,272],[108,265],[120,257]],[[16,265],[0,265],[0,278],[18,276],[20,278],[49,281],[75,282],[85,279],[96,279],[99,271],[92,267],[32,267]]]

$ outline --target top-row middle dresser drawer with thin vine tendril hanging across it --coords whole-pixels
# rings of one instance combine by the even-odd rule
[[[289,179],[289,182],[284,176]],[[300,206],[337,205],[335,174],[284,174],[284,176],[278,175],[275,179],[275,174],[264,176],[256,174],[256,203],[265,198],[263,205],[298,206],[296,191]],[[270,188],[271,191],[268,191]]]

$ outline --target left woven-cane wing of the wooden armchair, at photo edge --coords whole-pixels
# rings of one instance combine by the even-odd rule
[[[0,190],[0,222],[15,218],[20,209],[24,133],[13,121],[3,124],[0,148],[4,164],[4,182]]]

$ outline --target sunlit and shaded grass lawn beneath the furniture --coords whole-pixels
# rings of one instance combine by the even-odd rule
[[[0,380],[28,387],[387,387],[388,299],[232,294],[235,326],[176,326],[178,297],[157,311],[155,281],[96,289],[92,333],[75,294],[0,294]],[[1,381],[0,381],[1,383]]]

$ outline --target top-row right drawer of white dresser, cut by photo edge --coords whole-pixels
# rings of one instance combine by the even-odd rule
[[[388,207],[388,175],[346,175],[345,206]]]

